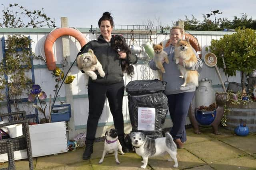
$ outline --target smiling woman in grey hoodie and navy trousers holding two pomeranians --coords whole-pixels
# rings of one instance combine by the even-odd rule
[[[174,61],[175,45],[179,39],[182,39],[183,35],[184,31],[180,27],[173,27],[170,30],[170,40],[168,41],[170,45],[164,48],[164,51],[168,54],[169,64],[163,63],[166,73],[162,75],[163,81],[167,82],[164,93],[168,98],[169,112],[173,122],[170,134],[179,149],[184,147],[183,144],[187,140],[185,130],[186,117],[196,90],[196,86],[193,84],[187,84],[187,86],[181,87],[184,80],[179,78],[180,70],[178,70]],[[202,61],[196,51],[194,53],[198,62],[187,69],[200,70],[202,68]],[[179,64],[182,65],[182,59],[180,59]],[[149,66],[153,70],[158,69],[153,60],[149,62]]]

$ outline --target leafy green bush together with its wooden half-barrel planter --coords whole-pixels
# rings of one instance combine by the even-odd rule
[[[227,76],[236,76],[236,71],[240,71],[242,90],[235,93],[228,92],[229,101],[225,107],[227,128],[234,130],[240,123],[246,123],[250,124],[251,129],[256,129],[255,123],[250,122],[250,118],[256,116],[253,111],[256,102],[253,102],[251,97],[253,89],[246,92],[244,83],[245,75],[251,74],[256,68],[255,30],[238,28],[231,35],[212,40],[206,50],[214,53],[219,61],[222,61],[223,57],[224,62],[218,62],[217,66],[223,68]]]

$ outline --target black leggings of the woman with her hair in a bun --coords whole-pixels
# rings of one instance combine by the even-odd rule
[[[113,115],[114,126],[118,130],[118,135],[124,135],[124,117],[122,113],[123,96],[123,79],[121,82],[109,85],[89,82],[89,115],[87,119],[86,139],[95,139],[98,121],[102,114],[106,98],[108,98],[110,111]]]

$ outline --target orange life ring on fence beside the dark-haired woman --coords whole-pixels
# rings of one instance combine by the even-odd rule
[[[53,30],[47,35],[46,40],[44,41],[44,53],[48,70],[54,70],[56,68],[54,53],[52,51],[53,43],[56,41],[56,39],[64,35],[70,35],[76,38],[81,47],[87,43],[84,35],[74,28],[63,27]]]

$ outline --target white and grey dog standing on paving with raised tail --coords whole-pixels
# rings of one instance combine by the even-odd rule
[[[159,156],[164,154],[169,154],[171,159],[174,160],[174,167],[178,167],[177,160],[177,146],[174,143],[172,135],[170,133],[165,133],[165,137],[160,137],[157,139],[151,139],[140,132],[130,133],[130,138],[132,140],[132,145],[135,148],[136,154],[142,156],[143,163],[140,168],[146,168],[148,164],[148,158],[153,156]]]

